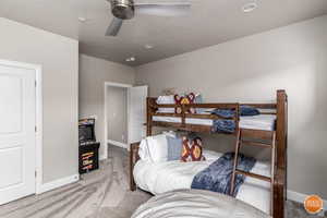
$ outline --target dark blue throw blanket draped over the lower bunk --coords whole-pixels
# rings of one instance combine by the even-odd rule
[[[230,194],[231,177],[233,171],[233,153],[227,153],[213,162],[208,168],[197,173],[192,182],[191,189],[209,190],[222,194]],[[256,160],[252,157],[239,155],[238,169],[250,172]],[[233,196],[235,197],[240,186],[243,184],[245,177],[237,174],[235,189]]]

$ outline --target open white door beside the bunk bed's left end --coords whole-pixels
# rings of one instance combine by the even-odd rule
[[[129,88],[129,143],[141,142],[146,136],[147,86]]]

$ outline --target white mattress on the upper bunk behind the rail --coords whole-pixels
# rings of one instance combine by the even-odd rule
[[[274,114],[258,114],[258,116],[251,116],[251,117],[241,117],[239,124],[240,128],[242,129],[272,131],[275,130],[275,120],[276,120],[276,116]],[[175,117],[154,116],[153,121],[181,123],[182,119]],[[214,121],[210,119],[186,118],[185,123],[199,124],[199,125],[213,125]]]

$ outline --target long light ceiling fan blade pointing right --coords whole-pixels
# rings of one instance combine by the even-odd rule
[[[182,16],[191,10],[191,3],[137,3],[135,12],[157,16]]]

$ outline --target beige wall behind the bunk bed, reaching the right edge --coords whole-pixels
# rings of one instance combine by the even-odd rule
[[[270,102],[289,94],[289,189],[327,198],[327,16],[136,69],[152,96],[164,88],[206,101]],[[213,142],[213,141],[211,141]],[[217,149],[226,146],[216,142]],[[231,146],[230,146],[231,148]]]

